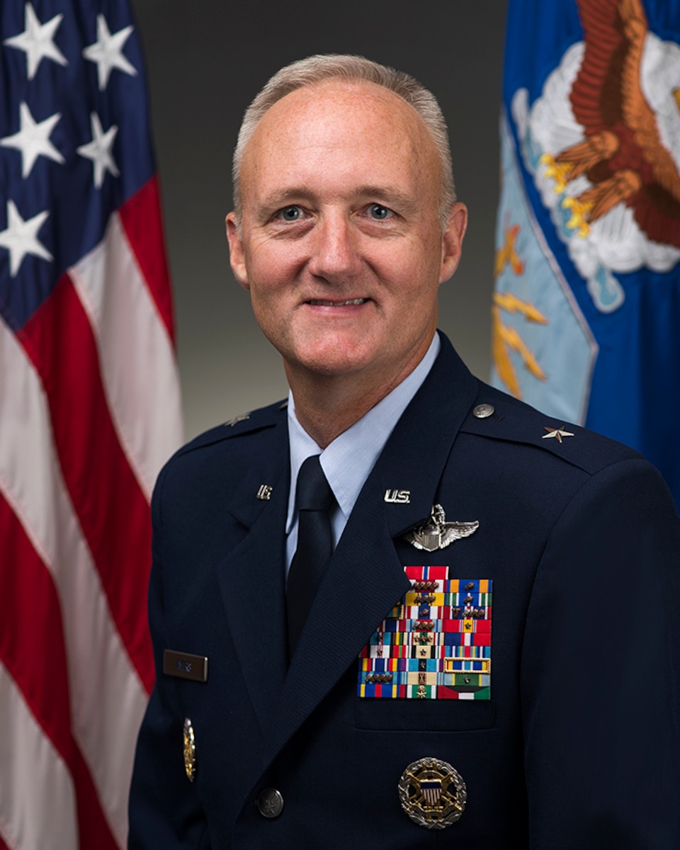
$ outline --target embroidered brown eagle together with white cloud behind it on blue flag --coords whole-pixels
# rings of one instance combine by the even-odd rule
[[[642,0],[576,0],[583,39],[530,105],[513,95],[524,164],[604,313],[617,275],[680,261],[680,45],[649,29]]]

